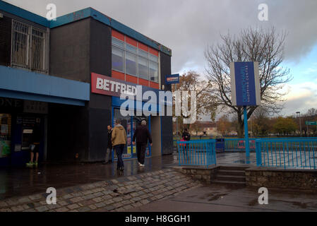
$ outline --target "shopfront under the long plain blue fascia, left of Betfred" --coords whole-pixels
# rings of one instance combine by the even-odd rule
[[[36,129],[41,134],[39,160],[45,161],[49,105],[85,106],[90,85],[4,66],[0,75],[0,166],[23,166],[30,160]]]

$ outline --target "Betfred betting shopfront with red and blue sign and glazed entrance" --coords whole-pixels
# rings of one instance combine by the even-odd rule
[[[160,111],[162,107],[157,104],[159,90],[96,73],[92,73],[91,84],[92,93],[111,97],[112,126],[114,126],[116,119],[121,119],[121,124],[124,126],[124,129],[126,129],[127,145],[124,150],[123,158],[131,159],[137,157],[136,145],[133,145],[132,139],[134,131],[136,131],[137,126],[139,126],[143,120],[147,121],[147,126],[150,133],[152,133],[153,140],[152,147],[150,145],[147,147],[146,157],[162,155],[162,140],[160,134]],[[147,91],[151,91],[152,94],[155,94],[155,100],[151,98],[150,100],[142,99],[144,93]],[[121,93],[126,93],[127,99],[121,99]],[[128,98],[128,96],[130,98]],[[138,97],[140,97],[140,99],[137,101],[136,99]],[[151,109],[151,107],[156,109]],[[112,158],[116,160],[116,153],[112,153]]]

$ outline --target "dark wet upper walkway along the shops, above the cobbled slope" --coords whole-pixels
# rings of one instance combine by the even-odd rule
[[[152,172],[177,165],[175,155],[149,157],[145,167],[138,167],[137,160],[124,161],[124,172],[117,172],[116,162],[86,164],[46,164],[37,168],[0,168],[0,200],[13,196],[43,193],[49,187],[56,189],[79,184],[89,184],[144,172]]]

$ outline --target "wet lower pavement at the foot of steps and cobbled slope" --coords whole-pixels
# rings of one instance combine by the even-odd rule
[[[178,196],[129,209],[128,212],[280,212],[317,211],[317,195],[268,190],[268,204],[258,203],[258,189],[211,184],[186,191]]]

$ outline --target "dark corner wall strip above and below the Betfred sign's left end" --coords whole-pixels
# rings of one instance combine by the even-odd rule
[[[111,28],[90,20],[90,72],[111,76]],[[107,126],[111,125],[112,97],[90,94],[90,152],[89,161],[103,161],[107,150]]]

